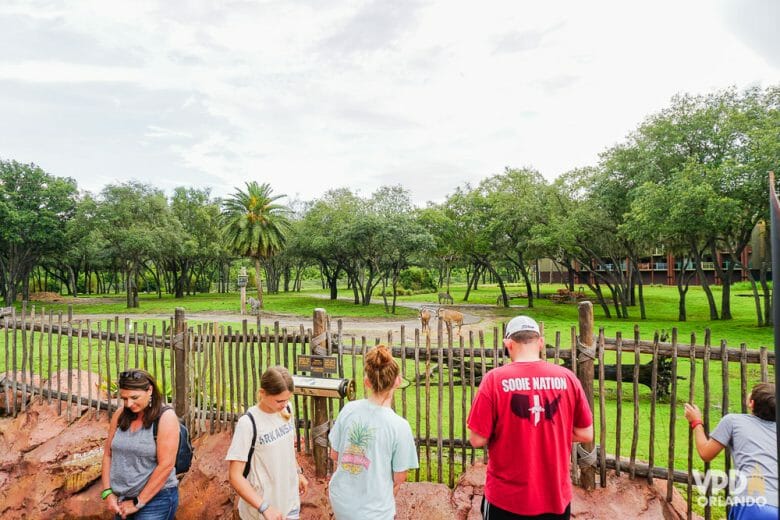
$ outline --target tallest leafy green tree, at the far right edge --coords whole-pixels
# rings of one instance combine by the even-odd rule
[[[703,240],[722,282],[720,313],[700,265],[703,254],[693,244],[689,252],[707,295],[711,319],[731,318],[735,269],[756,224],[767,213],[766,174],[780,156],[778,106],[777,87],[676,96],[667,109],[640,125],[632,138],[631,144],[646,157],[637,186],[645,182],[669,185],[678,176],[694,176],[696,183],[707,184],[715,194],[710,204],[717,201],[718,222],[703,228],[693,221],[691,225],[709,231]],[[675,203],[671,199],[663,202]],[[742,268],[748,271],[747,266]],[[760,322],[758,300],[757,307]]]

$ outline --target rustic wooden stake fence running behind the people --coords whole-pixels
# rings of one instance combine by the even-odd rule
[[[19,313],[2,316],[0,327],[0,363],[4,363],[0,378],[7,414],[25,410],[27,398],[12,398],[22,395],[56,400],[59,413],[67,414],[68,420],[85,413],[108,418],[119,405],[119,372],[138,367],[155,376],[193,436],[232,429],[256,402],[259,375],[273,365],[298,373],[297,356],[312,353],[313,337],[304,325],[263,326],[259,318],[251,323],[244,320],[237,327],[218,322],[187,327],[183,311],[177,311],[175,318],[158,326],[118,317],[91,321],[74,319],[70,313],[36,314],[26,305]],[[549,361],[580,373],[594,396],[595,466],[578,469],[575,455],[572,477],[579,482],[581,473],[590,471],[600,485],[606,485],[611,470],[648,481],[665,479],[668,500],[673,484],[684,484],[690,511],[696,496],[693,475],[702,464],[694,456],[682,403],[701,406],[707,431],[727,412],[746,412],[750,388],[769,381],[770,371],[774,372],[774,353],[766,347],[713,344],[708,331],[702,341],[692,335],[683,344],[676,329],[662,341],[658,333],[652,340],[642,340],[638,327],[629,338],[620,333],[606,338],[603,330],[582,336],[583,330],[593,330],[589,327],[592,324],[580,323],[579,335],[572,327],[565,339],[556,333],[548,338],[552,343],[543,353]],[[338,376],[355,380],[359,397],[365,395],[363,355],[375,344],[392,346],[406,381],[393,405],[416,436],[421,462],[417,480],[453,486],[465,466],[485,459],[483,450],[468,443],[466,417],[482,374],[505,360],[501,330],[469,330],[461,336],[440,323],[432,335],[418,329],[407,335],[402,328],[399,337],[388,333],[383,338],[358,339],[347,337],[337,321],[334,328],[328,325],[328,331],[326,348],[338,356]],[[583,379],[583,367],[590,380]],[[298,446],[306,452],[313,449],[309,399],[294,397]],[[63,403],[80,406],[63,407]],[[342,404],[329,401],[331,418]],[[728,470],[728,455],[720,467]],[[704,469],[710,469],[710,464],[704,464]],[[704,496],[711,493],[707,490]],[[709,506],[704,512],[709,518]]]

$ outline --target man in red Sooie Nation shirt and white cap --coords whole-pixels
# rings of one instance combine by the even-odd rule
[[[485,375],[468,418],[471,445],[489,451],[482,516],[568,519],[572,442],[593,440],[587,398],[571,370],[541,359],[533,319],[513,318],[504,346],[512,362]]]

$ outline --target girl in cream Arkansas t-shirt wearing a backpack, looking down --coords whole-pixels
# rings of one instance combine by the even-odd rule
[[[286,368],[269,368],[260,377],[257,406],[236,424],[225,460],[242,520],[300,517],[300,495],[309,481],[295,458],[294,389]]]

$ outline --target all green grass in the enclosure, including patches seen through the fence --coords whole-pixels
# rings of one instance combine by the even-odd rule
[[[552,294],[560,286],[557,285],[543,285],[543,295]],[[516,293],[523,292],[524,288],[521,286],[510,286],[508,292]],[[716,300],[720,303],[720,288],[714,287]],[[455,305],[461,305],[465,288],[462,286],[453,286],[450,290],[455,298]],[[679,337],[678,341],[682,344],[691,342],[691,336],[695,335],[695,341],[701,345],[704,339],[705,329],[710,329],[713,350],[717,351],[720,346],[720,341],[725,340],[726,344],[732,348],[738,348],[742,343],[746,344],[750,349],[756,349],[760,346],[771,346],[773,344],[773,331],[770,327],[758,327],[756,326],[755,310],[752,298],[744,298],[739,296],[740,294],[748,293],[744,286],[735,287],[732,290],[732,313],[734,319],[732,320],[709,320],[709,311],[706,305],[704,294],[699,287],[691,287],[687,297],[687,310],[688,321],[680,323],[676,321],[677,318],[677,291],[673,287],[645,287],[645,298],[647,304],[647,320],[639,320],[639,309],[631,308],[631,317],[627,319],[607,319],[604,316],[603,310],[599,306],[594,307],[595,325],[597,328],[603,327],[607,337],[614,337],[617,331],[623,334],[626,340],[633,338],[633,328],[635,324],[638,324],[641,333],[641,339],[652,339],[653,334],[656,331],[670,332],[672,328],[677,328]],[[345,289],[340,290],[340,297],[351,297],[351,291]],[[549,299],[540,298],[535,300],[533,309],[525,309],[522,306],[527,303],[526,300],[513,300],[513,308],[505,309],[495,305],[496,296],[499,294],[498,288],[495,286],[482,285],[478,291],[472,291],[469,302],[473,304],[481,304],[478,308],[466,308],[465,312],[478,315],[482,321],[475,326],[467,327],[475,331],[476,329],[483,329],[484,344],[488,347],[492,346],[495,341],[493,333],[494,327],[500,327],[501,322],[505,322],[511,317],[517,314],[529,314],[536,318],[538,321],[544,324],[545,335],[548,344],[556,341],[556,333],[560,335],[560,345],[562,348],[570,347],[571,329],[577,324],[577,305],[575,304],[556,304]],[[301,323],[309,327],[311,323],[312,311],[316,307],[325,308],[332,319],[337,318],[359,318],[359,319],[371,319],[382,320],[388,319],[389,321],[397,321],[400,319],[409,319],[416,317],[416,310],[405,307],[397,307],[395,315],[387,315],[384,311],[384,307],[381,305],[381,297],[375,297],[374,303],[376,305],[363,306],[354,305],[351,300],[337,300],[331,301],[322,298],[323,291],[317,288],[309,288],[301,293],[286,293],[276,295],[266,295],[265,297],[265,311],[274,315],[292,315],[298,316],[301,319]],[[120,295],[121,296],[121,295]],[[399,302],[425,302],[434,304],[436,294],[420,294],[414,296],[399,297]],[[80,303],[78,300],[73,304],[73,312],[75,314],[103,314],[103,315],[115,315],[115,314],[129,314],[132,317],[132,321],[137,324],[134,325],[133,330],[139,332],[143,330],[146,325],[147,330],[151,333],[152,327],[155,327],[157,334],[159,335],[163,330],[163,327],[167,327],[170,324],[170,319],[161,319],[159,316],[172,316],[176,307],[184,307],[188,314],[197,313],[213,313],[219,315],[220,313],[237,313],[238,312],[238,294],[208,294],[208,295],[196,295],[190,296],[184,299],[175,299],[170,296],[164,296],[158,299],[156,295],[143,294],[141,295],[141,307],[138,309],[126,309],[124,299],[116,296],[102,297],[102,298],[82,298]],[[55,323],[57,322],[56,313],[67,313],[68,308],[66,305],[46,305],[46,312],[49,310],[55,312]],[[612,309],[614,311],[614,309]],[[37,312],[40,314],[40,306],[37,307]],[[227,318],[227,317],[226,317]],[[207,320],[203,320],[207,321]],[[233,330],[238,330],[240,326],[238,322],[230,322],[228,319],[220,319],[219,322],[223,324],[225,330],[228,326],[231,326]],[[131,323],[130,321],[128,323]],[[264,319],[264,324],[268,323],[267,319]],[[93,328],[96,323],[91,324]],[[198,327],[199,322],[195,320],[190,321],[190,325]],[[249,326],[254,325],[254,319],[249,320]],[[86,326],[83,324],[83,326]],[[102,323],[102,328],[105,330],[105,320]],[[112,329],[116,328],[112,322]],[[388,325],[389,328],[389,325]],[[118,329],[122,332],[125,330],[125,320],[118,321]],[[348,331],[348,327],[345,327],[345,332]],[[435,334],[435,327],[434,327]],[[385,341],[386,334],[378,334],[379,341]],[[408,337],[413,337],[411,333]],[[132,336],[131,336],[132,338]],[[29,338],[28,338],[29,341]],[[92,346],[87,344],[85,340],[82,340],[84,344],[79,348],[71,344],[71,352],[74,352],[74,366],[81,366],[82,368],[90,368],[93,371],[97,371],[97,361],[92,359],[92,363],[88,363],[88,356],[90,348],[96,349],[95,341],[93,340]],[[464,342],[468,345],[468,335],[464,335]],[[474,341],[478,341],[478,336],[474,335]],[[407,344],[410,340],[407,339]],[[366,338],[367,345],[373,345],[375,338]],[[12,367],[12,359],[8,358],[8,352],[13,344],[13,336],[6,335],[4,332],[0,332],[0,371],[8,370]],[[18,334],[16,338],[17,344],[17,369],[21,369],[21,335]],[[35,347],[34,355],[34,369],[37,372],[39,366],[46,367],[48,364],[48,345],[43,345],[43,350],[40,350],[40,335],[33,336],[33,344]],[[360,346],[360,340],[357,340],[357,345]],[[479,346],[479,345],[475,345]],[[8,347],[8,348],[4,348]],[[436,342],[434,339],[433,348],[436,348]],[[67,340],[61,341],[59,347],[55,344],[53,346],[52,362],[56,367],[56,353],[60,352],[60,367],[65,367],[67,361],[68,352]],[[105,373],[105,349],[106,345],[101,347],[101,363],[102,372]],[[119,368],[125,365],[124,356],[124,344],[112,344],[109,346],[110,353],[110,369],[114,373]],[[267,366],[268,362],[276,363],[284,360],[283,346],[280,357],[277,359],[276,347],[271,345],[264,345],[264,351],[258,354],[257,367],[258,370],[261,367]],[[75,350],[74,350],[75,349]],[[457,350],[457,342],[455,345]],[[139,349],[140,350],[140,349]],[[40,353],[42,352],[42,356]],[[135,364],[135,353],[129,352],[128,364]],[[269,355],[271,359],[269,359]],[[149,358],[150,354],[147,354]],[[225,355],[227,356],[227,354]],[[288,363],[291,361],[292,353],[288,353]],[[615,354],[607,352],[605,354],[605,362],[614,362]],[[139,354],[139,364],[144,366],[143,353]],[[649,355],[641,356],[641,363],[645,363],[650,359]],[[150,359],[146,363],[150,363]],[[228,362],[228,358],[224,358],[224,362]],[[343,369],[347,377],[354,377],[357,386],[359,388],[358,396],[363,395],[362,391],[362,361],[361,358],[353,357],[351,355],[344,356],[342,360]],[[623,363],[633,362],[633,352],[624,352]],[[160,365],[162,363],[162,365]],[[164,359],[158,358],[156,370],[169,370],[170,360],[166,356]],[[459,367],[456,365],[456,372]],[[424,364],[418,370],[424,371]],[[406,379],[411,381],[415,375],[415,367],[412,361],[407,361],[404,365],[404,371]],[[684,419],[682,403],[688,399],[688,385],[690,380],[690,365],[687,359],[680,359],[678,365],[678,375],[686,379],[678,381],[678,400],[674,408],[676,419],[674,421],[673,434],[674,434],[674,459],[673,465],[676,469],[685,470],[688,464],[688,425]],[[743,396],[740,393],[740,369],[738,363],[731,363],[729,366],[728,381],[729,381],[729,410],[741,411],[741,400]],[[753,386],[760,378],[758,365],[749,365],[747,371],[747,386],[748,389]],[[473,389],[467,388],[465,390],[460,386],[454,386],[452,395],[449,392],[449,376],[445,375],[443,380],[439,379],[439,376],[433,375],[430,380],[430,385],[427,387],[424,384],[415,385],[407,384],[405,388],[399,390],[396,393],[396,410],[399,413],[405,415],[413,430],[419,437],[431,437],[431,438],[450,438],[465,439],[467,432],[465,430],[464,420],[464,404],[468,408],[468,403],[471,402],[473,397]],[[769,379],[774,380],[774,367],[769,367]],[[441,381],[441,387],[439,386]],[[700,406],[704,402],[704,386],[703,386],[703,372],[702,361],[696,362],[696,387],[694,389],[694,401]],[[206,378],[201,383],[202,387],[208,387],[211,384],[210,380]],[[711,399],[711,417],[710,427],[713,428],[717,421],[720,419],[723,410],[721,409],[721,402],[723,400],[722,395],[722,376],[721,376],[721,364],[719,361],[712,361],[710,364],[710,399]],[[597,381],[596,381],[597,385]],[[418,399],[416,391],[420,392]],[[632,435],[634,433],[633,426],[633,388],[630,383],[624,383],[622,385],[623,398],[620,401],[622,408],[621,417],[621,434],[620,434],[620,453],[624,457],[630,455]],[[252,401],[254,395],[254,388],[248,389],[249,400]],[[600,414],[599,409],[599,394],[598,387],[595,389],[595,424],[596,424],[596,442],[599,442],[600,438]],[[666,467],[668,464],[668,451],[671,441],[670,421],[672,416],[672,407],[668,399],[657,402],[656,416],[655,416],[655,428],[651,429],[650,419],[650,401],[651,393],[648,388],[639,386],[638,390],[638,429],[637,437],[638,443],[636,448],[636,458],[640,461],[647,461],[650,456],[651,448],[654,450],[654,465],[656,467]],[[604,388],[605,396],[605,409],[604,415],[607,417],[607,429],[606,429],[606,449],[610,454],[614,454],[617,447],[617,429],[615,424],[617,422],[617,384],[614,382],[607,382]],[[233,398],[235,403],[234,409],[239,411],[242,406],[237,401],[237,398]],[[229,395],[226,395],[226,402],[229,404]],[[427,404],[426,404],[427,403]],[[441,411],[439,406],[441,403]],[[450,407],[453,412],[450,414]],[[452,425],[450,425],[452,422]],[[651,440],[652,439],[652,444]],[[450,476],[456,478],[456,475],[462,469],[463,458],[467,461],[472,458],[480,459],[482,453],[479,450],[466,449],[462,450],[457,448],[451,452],[448,448],[444,448],[442,452],[442,463],[438,462],[438,449],[433,446],[430,449],[426,447],[420,448],[421,454],[421,471],[419,479],[427,480],[432,478],[438,480],[439,472],[441,471],[441,479],[444,482],[448,482]],[[452,460],[452,463],[450,463]],[[725,457],[718,457],[713,462],[713,468],[723,468]],[[694,468],[703,470],[704,465],[701,463],[698,456],[693,458]],[[453,474],[454,473],[454,474]],[[716,517],[718,515],[716,514]]]

